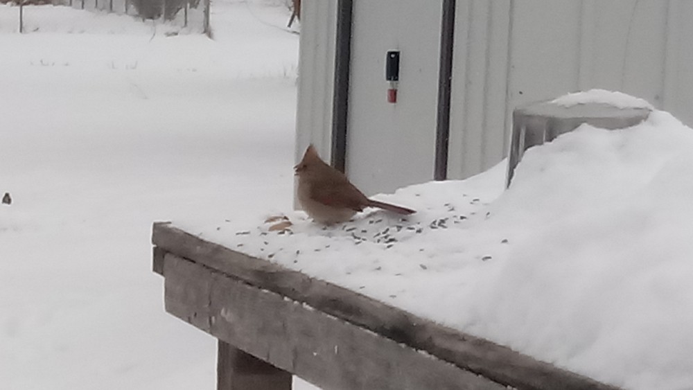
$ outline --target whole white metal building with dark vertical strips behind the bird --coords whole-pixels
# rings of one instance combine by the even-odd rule
[[[591,88],[693,124],[691,20],[687,0],[304,0],[297,158],[315,144],[367,195],[461,179],[505,157],[514,107]]]

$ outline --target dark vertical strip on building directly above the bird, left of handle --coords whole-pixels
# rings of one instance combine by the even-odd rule
[[[332,166],[344,172],[347,161],[347,127],[349,124],[349,72],[351,68],[351,19],[353,1],[337,3],[335,43],[335,82],[332,109]]]

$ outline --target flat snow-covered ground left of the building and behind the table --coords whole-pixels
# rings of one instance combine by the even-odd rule
[[[214,1],[215,40],[0,6],[0,389],[213,389],[150,229],[292,206],[298,36],[268,3]]]

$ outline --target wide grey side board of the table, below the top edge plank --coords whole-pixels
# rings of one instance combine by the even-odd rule
[[[170,314],[324,389],[505,389],[303,303],[172,254],[166,254],[164,276]]]

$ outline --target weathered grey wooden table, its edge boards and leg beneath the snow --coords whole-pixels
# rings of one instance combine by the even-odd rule
[[[172,224],[152,242],[166,311],[219,340],[220,390],[616,389]]]

